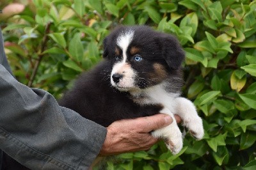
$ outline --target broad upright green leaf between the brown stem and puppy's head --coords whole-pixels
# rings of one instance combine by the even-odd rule
[[[76,59],[76,61],[83,61],[83,44],[80,40],[80,33],[76,33],[74,37],[70,40],[68,44],[68,52],[71,54],[72,58]]]

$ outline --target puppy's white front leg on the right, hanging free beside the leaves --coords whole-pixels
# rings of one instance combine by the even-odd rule
[[[175,98],[177,112],[183,121],[183,125],[188,128],[191,135],[200,140],[204,137],[204,127],[202,119],[196,112],[195,105],[187,98]]]

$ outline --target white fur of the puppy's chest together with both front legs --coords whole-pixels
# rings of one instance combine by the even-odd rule
[[[168,114],[173,118],[173,123],[167,127],[160,128],[152,132],[157,138],[163,138],[166,146],[173,154],[179,153],[182,149],[182,134],[174,119],[174,114],[180,116],[183,125],[188,128],[189,132],[196,137],[202,139],[204,137],[204,128],[202,119],[196,112],[195,105],[188,99],[179,97],[179,93],[168,93],[164,84],[159,84],[140,91],[130,91],[135,98],[134,102],[141,105],[161,104],[163,109],[160,113]]]

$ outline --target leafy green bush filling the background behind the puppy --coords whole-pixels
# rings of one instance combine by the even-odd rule
[[[56,98],[100,61],[102,40],[118,24],[174,34],[186,50],[184,96],[204,119],[204,139],[186,135],[174,156],[160,142],[120,155],[108,169],[256,169],[256,1],[20,3],[21,13],[0,15],[8,60],[20,82]]]

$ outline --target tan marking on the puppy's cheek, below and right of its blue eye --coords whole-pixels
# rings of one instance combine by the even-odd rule
[[[150,78],[155,82],[161,82],[167,77],[166,69],[159,63],[153,65],[154,73],[150,73]]]

